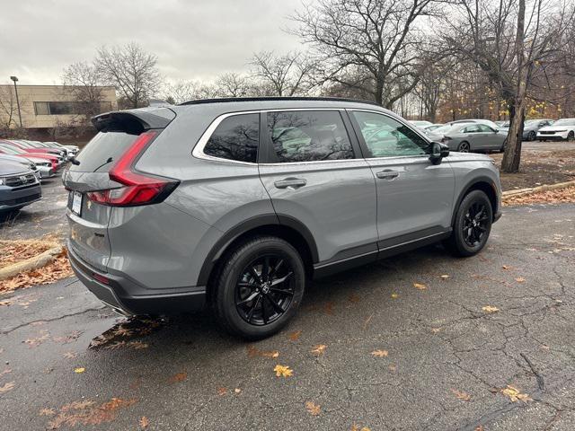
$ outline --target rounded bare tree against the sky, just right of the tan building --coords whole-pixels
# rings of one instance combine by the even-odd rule
[[[146,106],[160,87],[157,57],[136,43],[99,48],[95,61],[103,80],[116,87],[130,108]]]

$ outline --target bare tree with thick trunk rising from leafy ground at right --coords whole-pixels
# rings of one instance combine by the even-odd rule
[[[444,22],[445,40],[482,68],[507,103],[511,124],[501,168],[517,172],[526,98],[535,80],[546,81],[541,78],[565,48],[573,6],[549,0],[461,0],[456,11],[459,20],[449,15]]]

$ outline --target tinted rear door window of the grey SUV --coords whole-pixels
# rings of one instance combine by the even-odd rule
[[[338,111],[268,112],[268,130],[279,163],[353,159]]]

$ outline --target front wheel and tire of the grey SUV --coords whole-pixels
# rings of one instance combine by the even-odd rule
[[[493,209],[487,195],[482,190],[470,191],[459,204],[453,232],[443,245],[455,256],[474,256],[487,243],[492,220]]]

